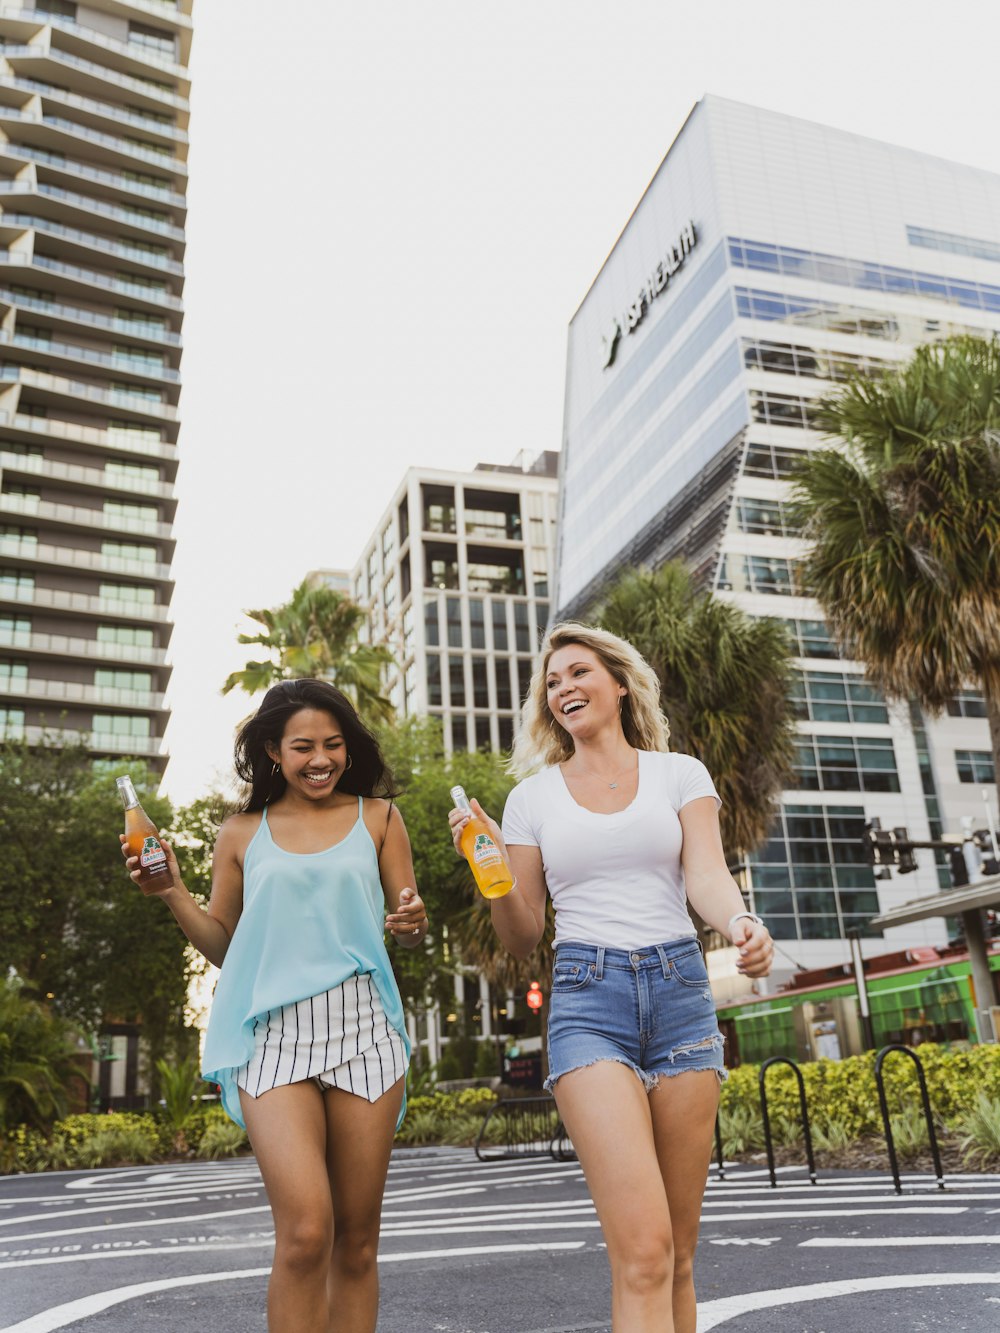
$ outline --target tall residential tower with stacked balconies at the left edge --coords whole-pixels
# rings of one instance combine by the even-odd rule
[[[191,4],[0,8],[0,733],[159,770]]]

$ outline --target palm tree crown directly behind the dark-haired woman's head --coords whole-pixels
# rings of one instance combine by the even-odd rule
[[[223,685],[224,694],[237,685],[256,694],[279,680],[319,677],[343,689],[369,722],[392,721],[392,704],[381,693],[392,653],[381,644],[359,641],[365,613],[344,593],[311,587],[305,580],[283,607],[247,615],[264,629],[240,635],[239,643],[260,644],[273,656],[232,672]]]

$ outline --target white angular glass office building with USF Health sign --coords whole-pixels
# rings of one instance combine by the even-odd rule
[[[840,962],[843,932],[933,892],[939,868],[873,878],[867,817],[915,837],[984,820],[996,788],[983,701],[889,706],[796,592],[787,499],[828,444],[813,404],[921,343],[1000,329],[1000,177],[705,97],[569,325],[557,616],[628,565],[687,560],[796,645],[797,785],[752,857],[789,957]],[[939,944],[941,922],[867,948]]]

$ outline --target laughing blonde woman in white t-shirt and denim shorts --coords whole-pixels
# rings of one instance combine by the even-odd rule
[[[556,913],[549,1077],[608,1248],[615,1333],[695,1333],[692,1261],[723,1038],[687,901],[767,976],[773,946],[725,865],[705,766],[667,748],[631,644],[556,625],[532,678],[503,830],[516,886],[491,904],[517,957]],[[465,818],[451,812],[456,841]]]

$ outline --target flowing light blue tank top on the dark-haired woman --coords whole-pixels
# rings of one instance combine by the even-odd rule
[[[201,1076],[219,1084],[228,1116],[243,1125],[236,1073],[253,1054],[253,1024],[272,1009],[324,994],[371,973],[391,1026],[409,1037],[384,940],[379,853],[364,822],[325,852],[285,852],[267,808],[243,860],[243,914],[223,961],[208,1021]],[[399,1124],[405,1112],[405,1096]]]

